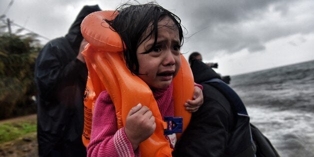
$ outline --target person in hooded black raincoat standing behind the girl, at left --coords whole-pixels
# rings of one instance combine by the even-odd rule
[[[39,156],[86,156],[82,144],[83,95],[87,67],[81,51],[83,18],[98,5],[84,6],[64,37],[42,48],[35,64]]]

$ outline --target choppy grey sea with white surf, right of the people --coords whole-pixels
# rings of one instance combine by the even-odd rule
[[[234,75],[229,85],[280,156],[314,156],[314,60]]]

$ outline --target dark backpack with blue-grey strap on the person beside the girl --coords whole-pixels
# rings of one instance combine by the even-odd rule
[[[279,156],[276,149],[272,146],[271,142],[268,138],[263,135],[259,129],[249,122],[249,116],[247,114],[246,108],[240,99],[240,97],[236,94],[236,92],[230,88],[226,83],[218,78],[212,78],[203,83],[209,84],[219,90],[229,101],[231,107],[237,113],[237,122],[235,125],[235,129],[233,130],[233,135],[231,137],[232,140],[246,140],[247,145],[251,145],[246,150],[244,150],[241,154],[236,156],[246,156],[245,154],[251,154],[253,151],[255,155],[258,156]],[[245,120],[243,120],[245,119]],[[243,132],[249,131],[251,136],[251,143],[247,139],[236,139],[239,137],[238,134],[243,134]],[[238,144],[238,142],[234,142]],[[231,145],[231,149],[236,149],[238,145]],[[231,150],[232,151],[232,150]]]

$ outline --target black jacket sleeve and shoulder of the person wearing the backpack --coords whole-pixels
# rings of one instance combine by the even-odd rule
[[[201,85],[204,103],[192,113],[187,129],[175,145],[173,156],[225,156],[232,122],[229,102],[215,88]]]

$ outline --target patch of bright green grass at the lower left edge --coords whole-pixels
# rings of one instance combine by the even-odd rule
[[[35,121],[5,122],[0,125],[0,143],[36,132]]]

